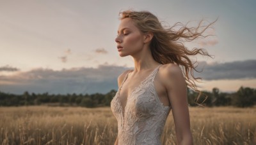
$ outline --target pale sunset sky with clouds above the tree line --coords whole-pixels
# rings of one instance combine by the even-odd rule
[[[214,58],[196,57],[204,71],[200,90],[235,92],[256,88],[256,1],[4,1],[0,0],[0,92],[107,93],[132,69],[120,57],[115,37],[122,10],[147,10],[164,25],[193,27],[218,19],[185,45],[205,48]]]

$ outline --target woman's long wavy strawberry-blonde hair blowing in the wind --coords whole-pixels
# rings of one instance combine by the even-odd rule
[[[141,32],[152,32],[154,34],[150,43],[150,50],[152,56],[156,62],[160,64],[177,64],[181,66],[186,79],[186,85],[193,88],[196,92],[200,92],[197,89],[195,81],[202,78],[196,78],[193,74],[196,70],[197,62],[192,62],[189,56],[193,55],[206,55],[212,57],[207,53],[204,48],[193,48],[189,50],[184,46],[184,42],[190,42],[198,37],[205,38],[207,36],[202,35],[206,29],[209,28],[216,20],[208,25],[203,25],[204,20],[201,20],[197,27],[188,27],[180,22],[174,24],[172,27],[164,28],[158,18],[149,11],[120,11],[120,19],[132,18],[138,29]],[[175,31],[175,27],[179,27]]]

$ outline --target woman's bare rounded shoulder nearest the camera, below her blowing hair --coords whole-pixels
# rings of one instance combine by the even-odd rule
[[[183,72],[177,64],[164,64],[159,69],[160,79],[166,88],[170,89],[177,84],[184,84]]]

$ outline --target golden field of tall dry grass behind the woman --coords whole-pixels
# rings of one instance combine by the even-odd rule
[[[190,107],[194,144],[256,144],[256,107]],[[0,107],[0,144],[114,144],[109,107]],[[175,144],[172,113],[162,135]]]

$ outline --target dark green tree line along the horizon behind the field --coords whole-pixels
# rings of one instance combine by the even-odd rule
[[[82,107],[104,107],[110,106],[110,102],[116,94],[111,90],[106,94],[49,94],[29,93],[21,95],[0,92],[0,106],[82,106]],[[236,106],[251,107],[256,104],[256,89],[241,86],[237,92],[220,92],[218,88],[212,88],[212,92],[195,92],[188,88],[189,106]]]

